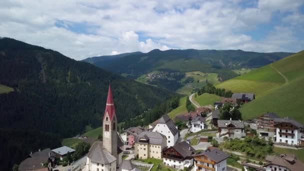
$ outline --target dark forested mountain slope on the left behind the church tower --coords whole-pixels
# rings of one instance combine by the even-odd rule
[[[0,170],[30,151],[58,147],[60,138],[100,126],[109,77],[118,121],[152,108],[173,92],[126,80],[57,51],[0,39]]]

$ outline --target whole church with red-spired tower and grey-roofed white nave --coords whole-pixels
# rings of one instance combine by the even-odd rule
[[[87,171],[115,171],[122,162],[123,151],[117,144],[117,118],[110,84],[102,118],[102,134],[102,141],[95,141],[86,154]]]

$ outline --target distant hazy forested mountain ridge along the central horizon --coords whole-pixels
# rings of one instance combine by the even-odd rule
[[[255,68],[266,65],[292,53],[271,52],[259,53],[242,50],[158,50],[147,53],[130,53],[122,57],[112,57],[112,61],[92,61],[90,58],[83,61],[92,62],[95,65],[123,74],[129,78],[151,72],[155,69],[171,69],[181,72],[202,71],[215,72],[221,80],[236,76],[231,69]],[[108,56],[100,56],[103,58]]]

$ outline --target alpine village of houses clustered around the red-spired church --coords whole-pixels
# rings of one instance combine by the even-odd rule
[[[161,74],[148,76],[153,78]],[[295,150],[304,147],[304,126],[287,115],[281,118],[274,112],[267,112],[252,120],[220,119],[225,104],[231,105],[230,110],[233,110],[254,99],[253,93],[233,93],[231,97],[214,101],[212,108],[198,107],[175,118],[165,114],[146,127],[129,127],[117,132],[109,86],[101,118],[102,139],[91,142],[86,154],[67,166],[58,166],[56,161],[66,159],[75,149],[67,146],[39,149],[28,154],[18,170],[304,170],[304,163],[294,154],[259,156],[258,151],[250,151],[248,146],[243,148],[246,156],[237,152],[241,145],[249,143],[267,147],[268,153],[273,146]],[[241,144],[229,148],[232,142]]]

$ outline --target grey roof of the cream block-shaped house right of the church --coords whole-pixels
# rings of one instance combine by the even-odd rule
[[[144,138],[152,144],[161,144],[162,139],[166,137],[159,132],[143,131],[136,136],[135,142],[138,142],[140,138]]]

